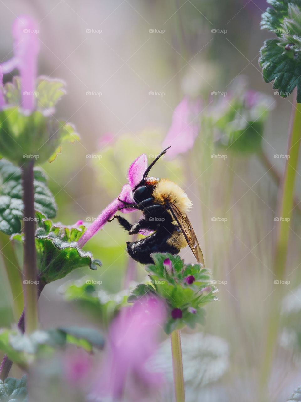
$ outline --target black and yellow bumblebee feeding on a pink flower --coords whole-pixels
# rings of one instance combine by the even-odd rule
[[[187,217],[187,212],[192,207],[187,194],[170,180],[147,177],[150,169],[169,148],[161,152],[148,166],[142,180],[133,189],[136,203],[129,204],[119,199],[124,203],[124,207],[119,210],[136,208],[142,211],[142,218],[133,225],[120,215],[114,215],[109,221],[117,219],[129,234],[138,234],[142,230],[153,232],[135,242],[126,242],[128,254],[141,264],[152,264],[151,254],[154,252],[178,254],[188,244],[197,261],[205,265],[199,242]]]

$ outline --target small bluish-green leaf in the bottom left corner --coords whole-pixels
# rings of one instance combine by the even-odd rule
[[[8,377],[4,381],[0,380],[0,400],[1,402],[26,402],[26,376],[21,379]]]

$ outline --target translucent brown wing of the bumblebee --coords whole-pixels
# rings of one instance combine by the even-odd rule
[[[175,221],[180,226],[183,235],[191,248],[198,263],[201,263],[205,267],[205,261],[199,242],[197,241],[197,236],[193,230],[193,227],[188,219],[185,212],[181,212],[174,204],[169,204],[169,209],[175,218]]]

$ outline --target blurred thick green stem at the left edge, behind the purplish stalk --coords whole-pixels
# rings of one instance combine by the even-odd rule
[[[24,307],[21,283],[22,272],[20,271],[18,260],[14,252],[14,246],[9,240],[9,237],[2,232],[0,232],[0,249],[6,275],[10,284],[10,290],[12,292],[14,318],[18,320]]]

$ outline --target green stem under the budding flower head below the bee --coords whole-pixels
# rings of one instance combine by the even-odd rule
[[[185,388],[184,388],[180,331],[171,332],[170,340],[171,340],[171,355],[173,358],[173,381],[175,384],[175,401],[185,402]]]

